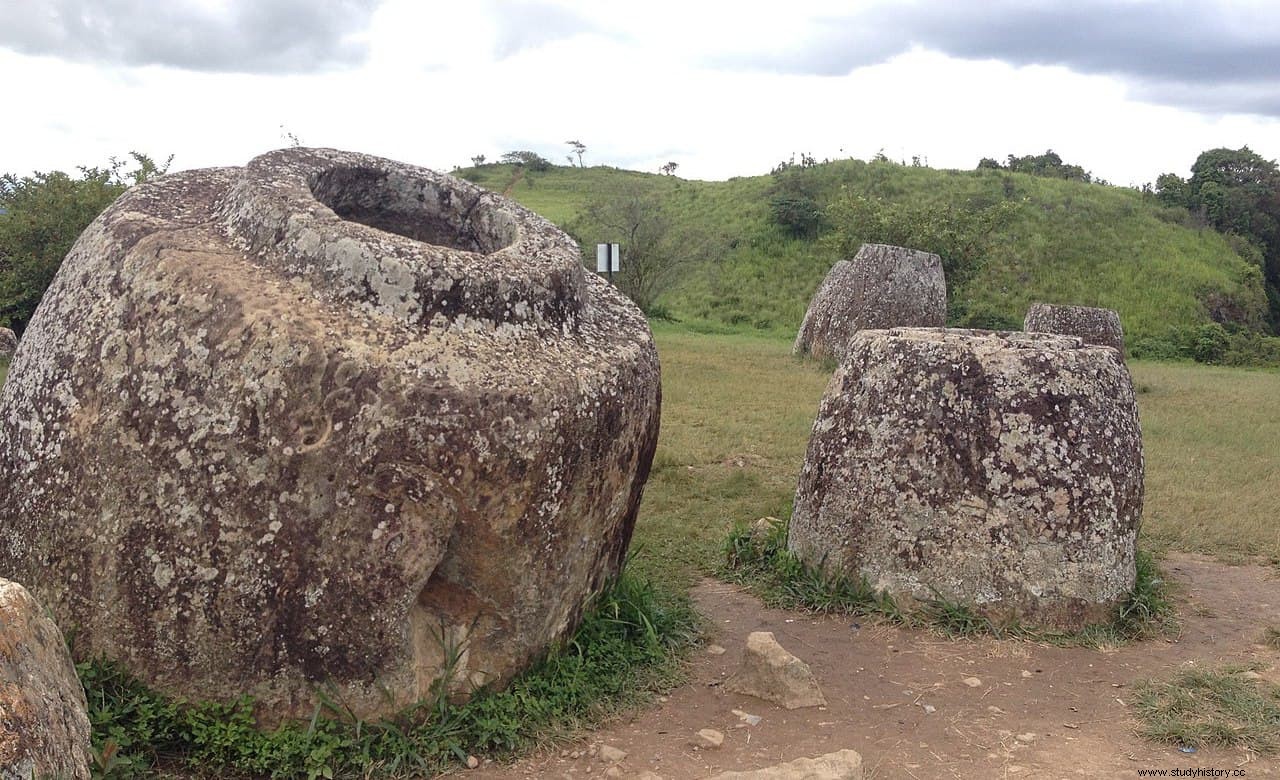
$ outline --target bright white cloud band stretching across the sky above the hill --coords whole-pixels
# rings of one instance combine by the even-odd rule
[[[308,145],[443,169],[512,149],[563,161],[563,142],[579,138],[588,164],[657,170],[675,160],[698,178],[764,173],[801,151],[865,159],[883,149],[973,168],[1052,147],[1121,184],[1185,173],[1216,146],[1280,156],[1276,119],[1142,102],[1158,96],[1064,67],[923,49],[844,76],[717,64],[753,47],[782,51],[832,4],[781,14],[668,0],[562,5],[556,35],[513,37],[539,6],[387,3],[362,33],[364,63],[328,73],[72,64],[0,49],[6,102],[23,106],[6,119],[0,172],[101,164],[131,149],[175,154],[175,168],[238,165],[285,145],[282,124]]]

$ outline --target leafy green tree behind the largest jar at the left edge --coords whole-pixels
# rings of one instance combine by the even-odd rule
[[[81,168],[79,178],[60,170],[0,177],[0,325],[22,333],[63,257],[106,206],[133,184],[165,173],[164,165],[129,152],[136,168],[111,159],[106,168]]]

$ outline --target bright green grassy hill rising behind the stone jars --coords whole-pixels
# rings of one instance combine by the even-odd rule
[[[771,220],[780,177],[685,181],[616,168],[553,167],[521,174],[509,165],[463,169],[463,177],[512,197],[561,225],[589,199],[614,192],[659,197],[684,234],[712,237],[712,256],[689,260],[659,304],[676,318],[792,333],[832,263],[827,242],[790,237]],[[1265,321],[1257,266],[1184,209],[1102,184],[1004,170],[934,170],[888,161],[841,160],[788,169],[819,205],[841,188],[888,202],[986,207],[1015,204],[984,265],[951,289],[951,321],[1020,327],[1029,304],[1105,306],[1120,313],[1130,345],[1170,339],[1212,321],[1211,310],[1244,329]],[[588,243],[617,237],[581,234]],[[625,251],[625,250],[623,250]]]

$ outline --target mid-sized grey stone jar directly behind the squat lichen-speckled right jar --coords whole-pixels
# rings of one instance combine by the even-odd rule
[[[873,328],[936,328],[946,321],[942,259],[884,243],[864,243],[832,266],[809,301],[792,351],[844,359],[849,339]]]

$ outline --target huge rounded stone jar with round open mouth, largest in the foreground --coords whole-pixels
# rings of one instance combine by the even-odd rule
[[[357,713],[500,683],[618,570],[640,311],[467,182],[294,149],[136,187],[0,396],[0,571],[189,698]]]

